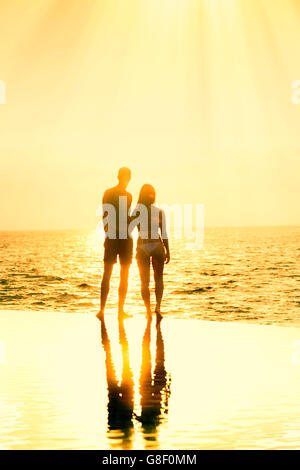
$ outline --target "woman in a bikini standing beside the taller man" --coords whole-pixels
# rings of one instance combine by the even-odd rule
[[[164,264],[170,261],[169,240],[166,233],[164,212],[154,205],[155,189],[150,184],[142,186],[138,204],[143,205],[148,221],[146,224],[137,224],[139,237],[137,241],[136,258],[141,278],[141,293],[147,310],[147,316],[151,316],[150,303],[150,264],[152,263],[155,280],[155,312],[157,320],[161,320],[160,305],[163,296],[163,271]],[[139,207],[136,208],[137,212]]]

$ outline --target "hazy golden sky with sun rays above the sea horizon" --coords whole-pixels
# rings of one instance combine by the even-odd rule
[[[298,0],[1,0],[0,229],[96,226],[129,190],[299,224]]]

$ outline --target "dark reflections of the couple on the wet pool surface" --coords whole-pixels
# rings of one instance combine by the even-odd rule
[[[104,319],[101,320],[101,341],[105,351],[108,388],[108,430],[111,438],[122,438],[129,444],[134,419],[142,426],[144,438],[155,440],[157,426],[168,413],[170,379],[165,369],[164,341],[160,323],[156,326],[156,357],[152,374],[151,319],[148,318],[142,343],[142,363],[139,378],[140,411],[134,412],[134,381],[130,368],[129,345],[124,319],[119,317],[119,343],[122,349],[122,374],[120,382],[115,371],[110,340]]]

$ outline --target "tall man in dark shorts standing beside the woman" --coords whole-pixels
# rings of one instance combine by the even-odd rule
[[[103,195],[103,224],[105,231],[104,242],[104,272],[101,282],[101,306],[97,314],[99,319],[103,318],[106,300],[109,292],[110,278],[114,264],[119,256],[120,262],[120,284],[119,284],[119,316],[126,317],[124,303],[128,288],[128,273],[132,261],[133,241],[128,234],[129,210],[132,196],[126,191],[131,179],[129,168],[122,167],[118,172],[119,183],[113,188],[107,189]],[[125,202],[125,204],[124,204]],[[110,211],[105,205],[114,208],[115,218],[110,217]],[[108,207],[109,208],[109,207]],[[108,216],[108,217],[107,217]],[[111,230],[109,224],[113,224]]]

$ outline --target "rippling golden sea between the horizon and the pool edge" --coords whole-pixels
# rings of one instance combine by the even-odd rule
[[[163,312],[170,318],[299,325],[299,257],[299,226],[207,228],[201,250],[171,240]],[[95,314],[102,258],[95,231],[0,232],[0,308]],[[118,275],[116,265],[108,314],[116,313]],[[126,310],[144,314],[135,260]]]

